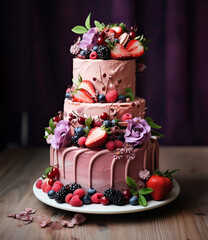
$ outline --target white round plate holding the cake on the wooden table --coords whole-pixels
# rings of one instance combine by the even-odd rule
[[[107,205],[104,206],[102,204],[89,204],[83,205],[81,207],[73,207],[67,203],[57,203],[54,199],[50,199],[46,193],[44,193],[41,189],[38,189],[33,185],[33,192],[35,196],[43,203],[59,208],[66,211],[79,212],[79,213],[91,213],[91,214],[123,214],[123,213],[134,213],[134,212],[142,212],[151,210],[154,208],[158,208],[164,206],[173,200],[175,200],[180,193],[179,184],[173,180],[173,188],[172,191],[168,194],[168,197],[163,201],[148,201],[148,205],[146,207],[142,207],[141,205],[132,206],[130,204],[124,206],[116,206],[116,205]]]

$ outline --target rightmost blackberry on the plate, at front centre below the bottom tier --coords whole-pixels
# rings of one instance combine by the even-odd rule
[[[104,196],[113,204],[121,206],[125,204],[125,198],[120,191],[108,188],[104,191]]]

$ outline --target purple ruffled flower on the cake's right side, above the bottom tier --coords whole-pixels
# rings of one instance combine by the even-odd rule
[[[127,123],[128,126],[124,134],[125,142],[137,146],[138,144],[146,143],[150,140],[151,127],[146,120],[135,117],[134,119],[128,119]]]

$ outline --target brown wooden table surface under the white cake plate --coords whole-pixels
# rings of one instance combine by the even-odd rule
[[[82,226],[51,230],[37,223],[19,226],[8,218],[25,207],[59,219],[74,213],[49,207],[35,198],[34,181],[49,163],[48,148],[5,150],[0,153],[0,239],[208,239],[208,147],[161,147],[160,169],[175,169],[181,187],[172,203],[146,212],[122,215],[86,214]]]

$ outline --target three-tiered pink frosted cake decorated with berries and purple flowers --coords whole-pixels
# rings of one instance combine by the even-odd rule
[[[160,127],[145,118],[145,99],[135,97],[136,70],[145,69],[140,58],[148,40],[136,34],[136,27],[128,31],[123,23],[95,21],[91,27],[90,15],[85,27],[72,31],[83,35],[70,48],[73,85],[66,90],[63,113],[45,128],[51,144],[47,184],[52,191],[55,181],[71,184],[71,193],[81,188],[91,196],[95,191],[123,205],[120,191],[132,182],[144,188],[159,165],[161,134],[153,128]],[[62,194],[56,193],[57,202],[64,202],[66,186]],[[108,199],[112,192],[116,200]]]

